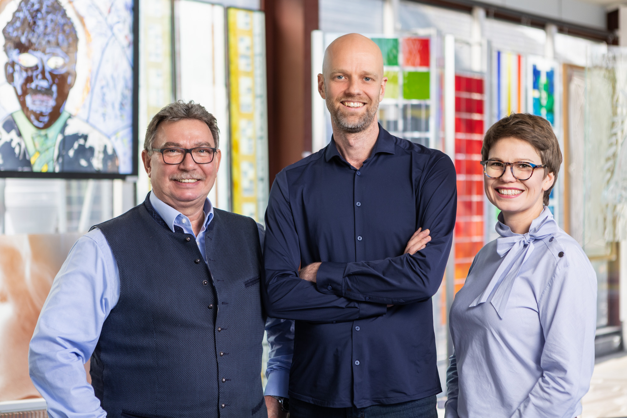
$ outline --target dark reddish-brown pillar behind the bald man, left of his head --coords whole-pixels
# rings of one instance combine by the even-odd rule
[[[318,0],[262,0],[266,14],[270,181],[312,149],[311,31]]]

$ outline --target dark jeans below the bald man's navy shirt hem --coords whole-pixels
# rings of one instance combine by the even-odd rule
[[[290,418],[438,418],[438,411],[436,395],[365,408],[327,408],[290,398]]]

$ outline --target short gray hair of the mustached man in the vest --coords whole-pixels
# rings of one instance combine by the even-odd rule
[[[216,148],[218,147],[220,130],[218,129],[218,123],[214,115],[207,112],[207,109],[203,106],[194,103],[194,100],[189,100],[187,103],[179,100],[159,110],[159,112],[152,117],[146,129],[144,149],[148,151],[149,154],[152,154],[152,145],[155,142],[157,128],[161,122],[177,122],[181,121],[181,119],[196,119],[197,121],[206,123],[209,127],[209,131],[211,131],[211,136],[213,136],[214,145]]]

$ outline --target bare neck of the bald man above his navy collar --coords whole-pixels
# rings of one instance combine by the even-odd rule
[[[372,154],[374,144],[379,137],[379,124],[374,119],[364,131],[349,133],[340,130],[332,122],[333,139],[340,155],[354,168],[361,168],[364,161]]]

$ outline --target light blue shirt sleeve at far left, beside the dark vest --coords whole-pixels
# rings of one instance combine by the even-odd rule
[[[99,230],[79,238],[55,277],[29,345],[31,380],[52,418],[104,418],[83,364],[119,298],[119,274]]]

